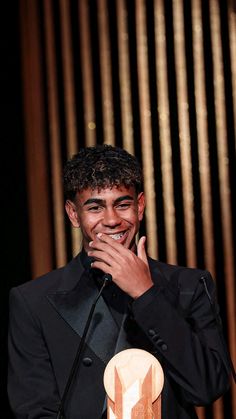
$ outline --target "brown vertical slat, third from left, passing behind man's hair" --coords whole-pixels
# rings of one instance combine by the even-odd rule
[[[62,69],[64,81],[65,119],[66,119],[66,143],[68,156],[71,157],[78,150],[76,110],[75,110],[75,89],[74,89],[74,67],[71,40],[71,24],[69,13],[69,2],[60,0],[61,18],[61,41],[62,41]],[[71,227],[72,252],[76,255],[81,249],[81,232],[78,228]]]

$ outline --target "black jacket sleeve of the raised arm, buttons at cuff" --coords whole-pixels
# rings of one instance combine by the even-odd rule
[[[135,321],[152,341],[165,373],[177,384],[184,400],[194,405],[206,405],[220,397],[229,387],[230,375],[227,349],[216,322],[215,284],[208,272],[204,280],[209,295],[199,275],[185,310],[180,295],[179,302],[172,304],[165,288],[155,285],[132,307]],[[180,294],[191,294],[189,287],[179,288]]]

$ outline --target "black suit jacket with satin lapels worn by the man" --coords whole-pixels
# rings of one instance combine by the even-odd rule
[[[194,405],[213,402],[229,385],[210,274],[149,259],[154,287],[132,303],[118,329],[100,298],[83,360],[66,403],[67,419],[100,419],[103,373],[115,352],[153,353],[165,373],[163,419],[196,418]],[[128,280],[128,278],[127,278]],[[97,287],[80,256],[10,293],[8,393],[17,418],[55,418]]]

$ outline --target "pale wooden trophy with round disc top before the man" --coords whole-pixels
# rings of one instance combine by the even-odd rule
[[[161,419],[164,374],[159,361],[142,349],[116,354],[104,372],[107,419]]]

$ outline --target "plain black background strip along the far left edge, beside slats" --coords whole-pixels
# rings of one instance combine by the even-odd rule
[[[13,418],[7,399],[8,295],[30,279],[30,255],[23,147],[18,2],[1,6],[1,417]]]

